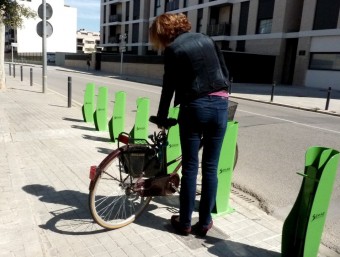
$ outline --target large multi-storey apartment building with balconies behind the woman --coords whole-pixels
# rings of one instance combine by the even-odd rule
[[[273,57],[273,82],[340,89],[339,0],[101,0],[101,46],[157,54],[148,29],[165,12],[186,14],[226,53]]]

